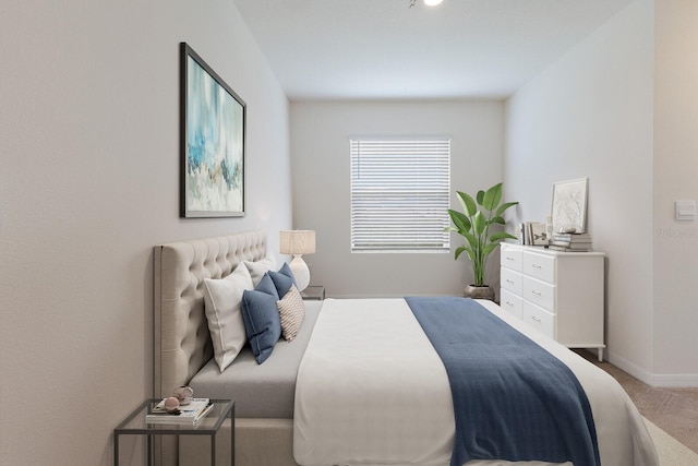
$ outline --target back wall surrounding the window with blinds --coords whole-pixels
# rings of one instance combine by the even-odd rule
[[[316,252],[304,256],[311,283],[334,297],[461,295],[472,272],[453,253],[351,253],[349,139],[449,135],[452,191],[474,193],[502,180],[503,123],[501,101],[291,103],[293,226],[316,230]]]

